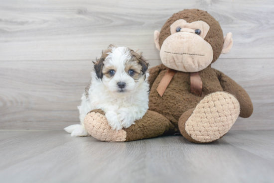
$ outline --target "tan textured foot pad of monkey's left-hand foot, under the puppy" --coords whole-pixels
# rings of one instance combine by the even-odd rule
[[[125,130],[112,130],[104,114],[90,112],[84,119],[84,125],[88,133],[94,138],[107,142],[126,141],[127,132]]]

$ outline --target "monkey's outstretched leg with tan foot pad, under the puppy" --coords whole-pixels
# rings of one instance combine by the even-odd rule
[[[135,121],[135,124],[119,131],[111,129],[104,111],[100,109],[89,112],[84,119],[84,125],[91,136],[108,142],[126,142],[157,137],[174,128],[173,124],[163,115],[150,110],[140,120]]]

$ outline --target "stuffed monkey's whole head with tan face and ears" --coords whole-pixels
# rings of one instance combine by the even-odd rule
[[[162,63],[183,72],[205,69],[233,45],[232,33],[223,37],[219,22],[199,9],[173,14],[160,32],[155,30],[154,42]]]

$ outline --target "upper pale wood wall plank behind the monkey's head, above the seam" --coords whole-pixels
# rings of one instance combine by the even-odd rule
[[[184,8],[233,33],[222,58],[274,57],[273,0],[0,0],[0,61],[89,60],[111,43],[159,59],[153,32]]]

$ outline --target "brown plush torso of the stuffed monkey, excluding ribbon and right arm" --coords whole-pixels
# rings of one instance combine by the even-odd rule
[[[157,69],[157,68],[156,68]],[[198,102],[207,94],[215,91],[223,91],[218,76],[208,67],[199,72],[203,82],[202,95],[191,93],[190,73],[180,72],[172,78],[163,96],[156,91],[167,68],[159,72],[149,94],[149,110],[156,111],[165,116],[172,124],[178,126],[178,120],[188,109],[195,108]],[[153,70],[151,68],[150,70]]]

